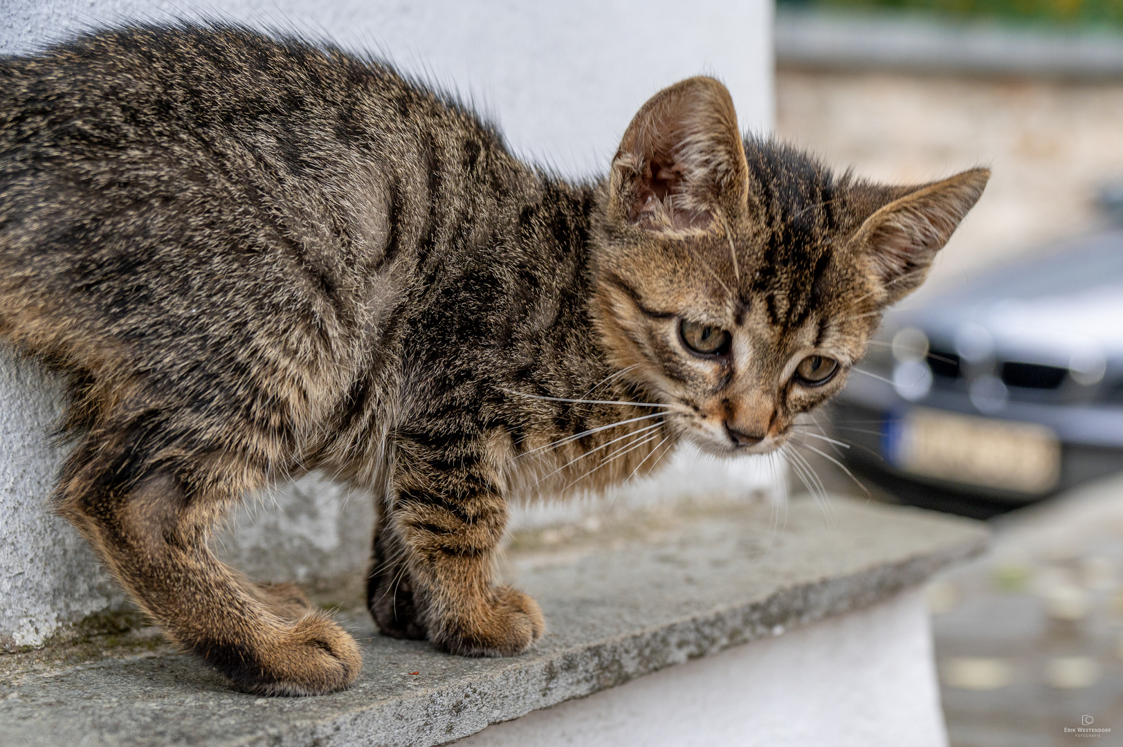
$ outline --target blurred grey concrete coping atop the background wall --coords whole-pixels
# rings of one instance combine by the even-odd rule
[[[1123,79],[1123,36],[922,13],[783,9],[776,63],[828,70]]]

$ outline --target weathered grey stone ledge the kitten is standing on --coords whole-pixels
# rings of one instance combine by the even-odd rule
[[[517,537],[505,575],[550,632],[522,656],[466,659],[378,637],[360,612],[364,672],[329,696],[230,691],[195,659],[149,652],[49,666],[0,659],[0,735],[24,745],[439,745],[489,723],[888,599],[978,553],[980,525],[836,499],[774,510],[663,509],[550,544]],[[412,674],[412,673],[417,674]]]

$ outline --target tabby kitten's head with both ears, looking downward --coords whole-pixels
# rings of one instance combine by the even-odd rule
[[[604,349],[705,450],[770,452],[841,389],[988,177],[834,176],[791,147],[742,138],[718,81],[665,89],[628,127],[602,193]]]

